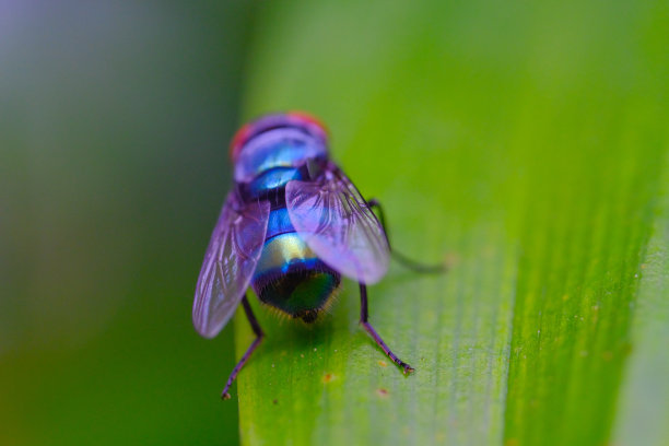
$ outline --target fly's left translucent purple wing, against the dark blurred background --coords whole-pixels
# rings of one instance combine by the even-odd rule
[[[230,320],[262,250],[270,203],[244,203],[231,192],[211,234],[192,304],[192,324],[213,338]]]

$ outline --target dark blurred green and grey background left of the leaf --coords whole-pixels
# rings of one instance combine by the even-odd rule
[[[190,309],[249,4],[0,1],[0,445],[237,441]]]

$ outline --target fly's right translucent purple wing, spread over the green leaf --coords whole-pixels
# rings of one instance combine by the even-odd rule
[[[363,283],[388,270],[386,234],[355,186],[329,165],[319,181],[290,181],[285,202],[295,231],[331,268]]]

